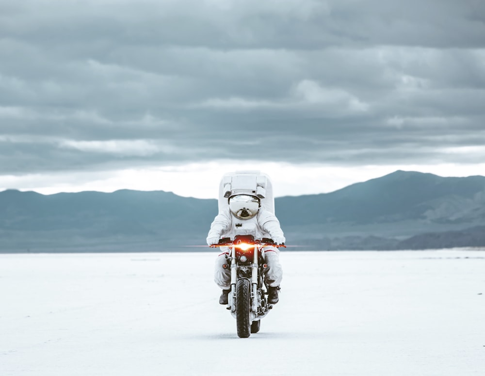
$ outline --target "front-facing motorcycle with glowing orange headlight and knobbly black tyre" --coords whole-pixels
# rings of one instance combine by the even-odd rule
[[[268,303],[268,284],[264,273],[268,265],[264,263],[262,248],[276,245],[272,239],[255,240],[253,235],[237,235],[232,241],[223,238],[211,247],[227,246],[231,250],[224,268],[231,271],[231,291],[228,295],[227,310],[236,319],[238,337],[248,338],[251,333],[258,333],[261,319],[273,309]]]

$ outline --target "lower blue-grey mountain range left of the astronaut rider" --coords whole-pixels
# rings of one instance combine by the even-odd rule
[[[217,201],[163,191],[8,190],[0,192],[0,208],[2,250],[149,251],[201,244]]]

